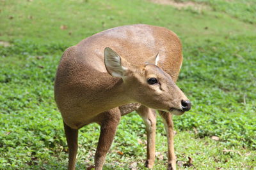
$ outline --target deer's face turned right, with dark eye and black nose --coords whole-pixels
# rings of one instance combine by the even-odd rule
[[[112,55],[115,56],[115,53]],[[111,57],[107,62],[105,58],[106,68],[112,76],[123,78],[125,91],[132,101],[174,115],[182,115],[190,110],[191,103],[188,98],[163,69],[148,63],[145,66],[132,66],[118,57]],[[120,59],[118,61],[120,66],[115,66],[116,63],[113,62],[115,59]]]

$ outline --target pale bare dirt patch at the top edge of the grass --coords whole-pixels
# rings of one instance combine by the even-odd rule
[[[148,0],[151,1],[152,3],[156,3],[156,4],[166,4],[166,5],[171,5],[174,6],[175,8],[178,8],[179,10],[182,8],[193,8],[194,10],[204,10],[207,8],[207,6],[205,4],[200,4],[200,3],[194,3],[194,2],[176,2],[173,0]]]

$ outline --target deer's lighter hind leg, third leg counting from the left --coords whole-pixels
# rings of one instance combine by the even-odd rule
[[[155,162],[156,150],[156,111],[141,105],[137,112],[143,118],[147,129],[147,160],[145,167],[152,168]]]

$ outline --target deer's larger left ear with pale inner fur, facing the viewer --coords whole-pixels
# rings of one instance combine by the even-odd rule
[[[122,66],[122,62],[125,62],[125,60],[109,47],[106,47],[104,50],[104,62],[105,67],[111,76],[124,78],[127,68]]]

